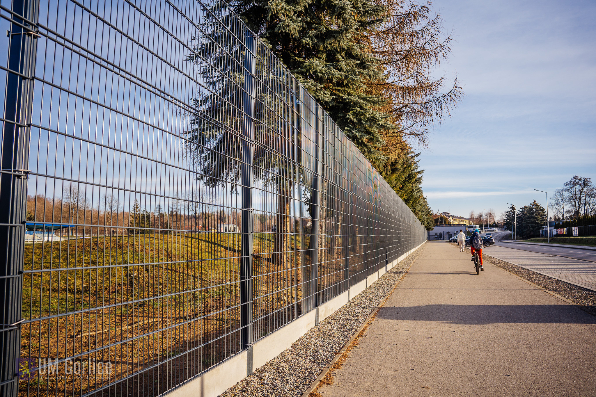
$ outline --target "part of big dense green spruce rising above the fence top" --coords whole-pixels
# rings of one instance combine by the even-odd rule
[[[231,5],[362,154],[382,164],[381,132],[396,127],[378,110],[387,98],[368,93],[368,83],[385,77],[360,39],[383,20],[384,7],[364,0],[240,0]]]

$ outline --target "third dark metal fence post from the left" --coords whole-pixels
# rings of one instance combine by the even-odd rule
[[[311,307],[319,305],[319,178],[321,167],[321,126],[319,125],[320,105],[315,103],[314,116],[315,131],[313,134],[312,178],[311,178],[311,238],[309,249],[311,252]],[[315,319],[318,323],[318,318]]]

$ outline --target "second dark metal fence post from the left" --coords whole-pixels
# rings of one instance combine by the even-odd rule
[[[242,187],[240,226],[240,347],[249,349],[253,343],[253,165],[254,165],[254,35],[244,35],[244,92],[242,101]],[[247,374],[252,373],[252,351],[247,358]]]

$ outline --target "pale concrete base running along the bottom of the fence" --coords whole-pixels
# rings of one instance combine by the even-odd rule
[[[340,293],[333,299],[306,312],[296,320],[291,321],[284,327],[272,332],[263,339],[255,342],[251,348],[244,350],[234,356],[222,361],[215,367],[203,374],[200,374],[188,382],[183,383],[172,390],[168,396],[171,397],[216,397],[225,392],[229,387],[240,382],[244,377],[250,375],[254,370],[262,367],[269,360],[289,348],[296,340],[305,335],[309,329],[319,321],[324,320],[346,304],[350,299],[368,288],[372,283],[383,276],[388,270],[408,257],[409,254],[420,248],[424,243],[403,254],[401,257],[382,267],[380,270],[368,276],[365,280],[351,286],[348,290]]]

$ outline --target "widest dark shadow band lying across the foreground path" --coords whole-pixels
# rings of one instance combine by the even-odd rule
[[[572,305],[424,305],[383,307],[377,318],[443,321],[449,324],[596,324],[596,317]]]

